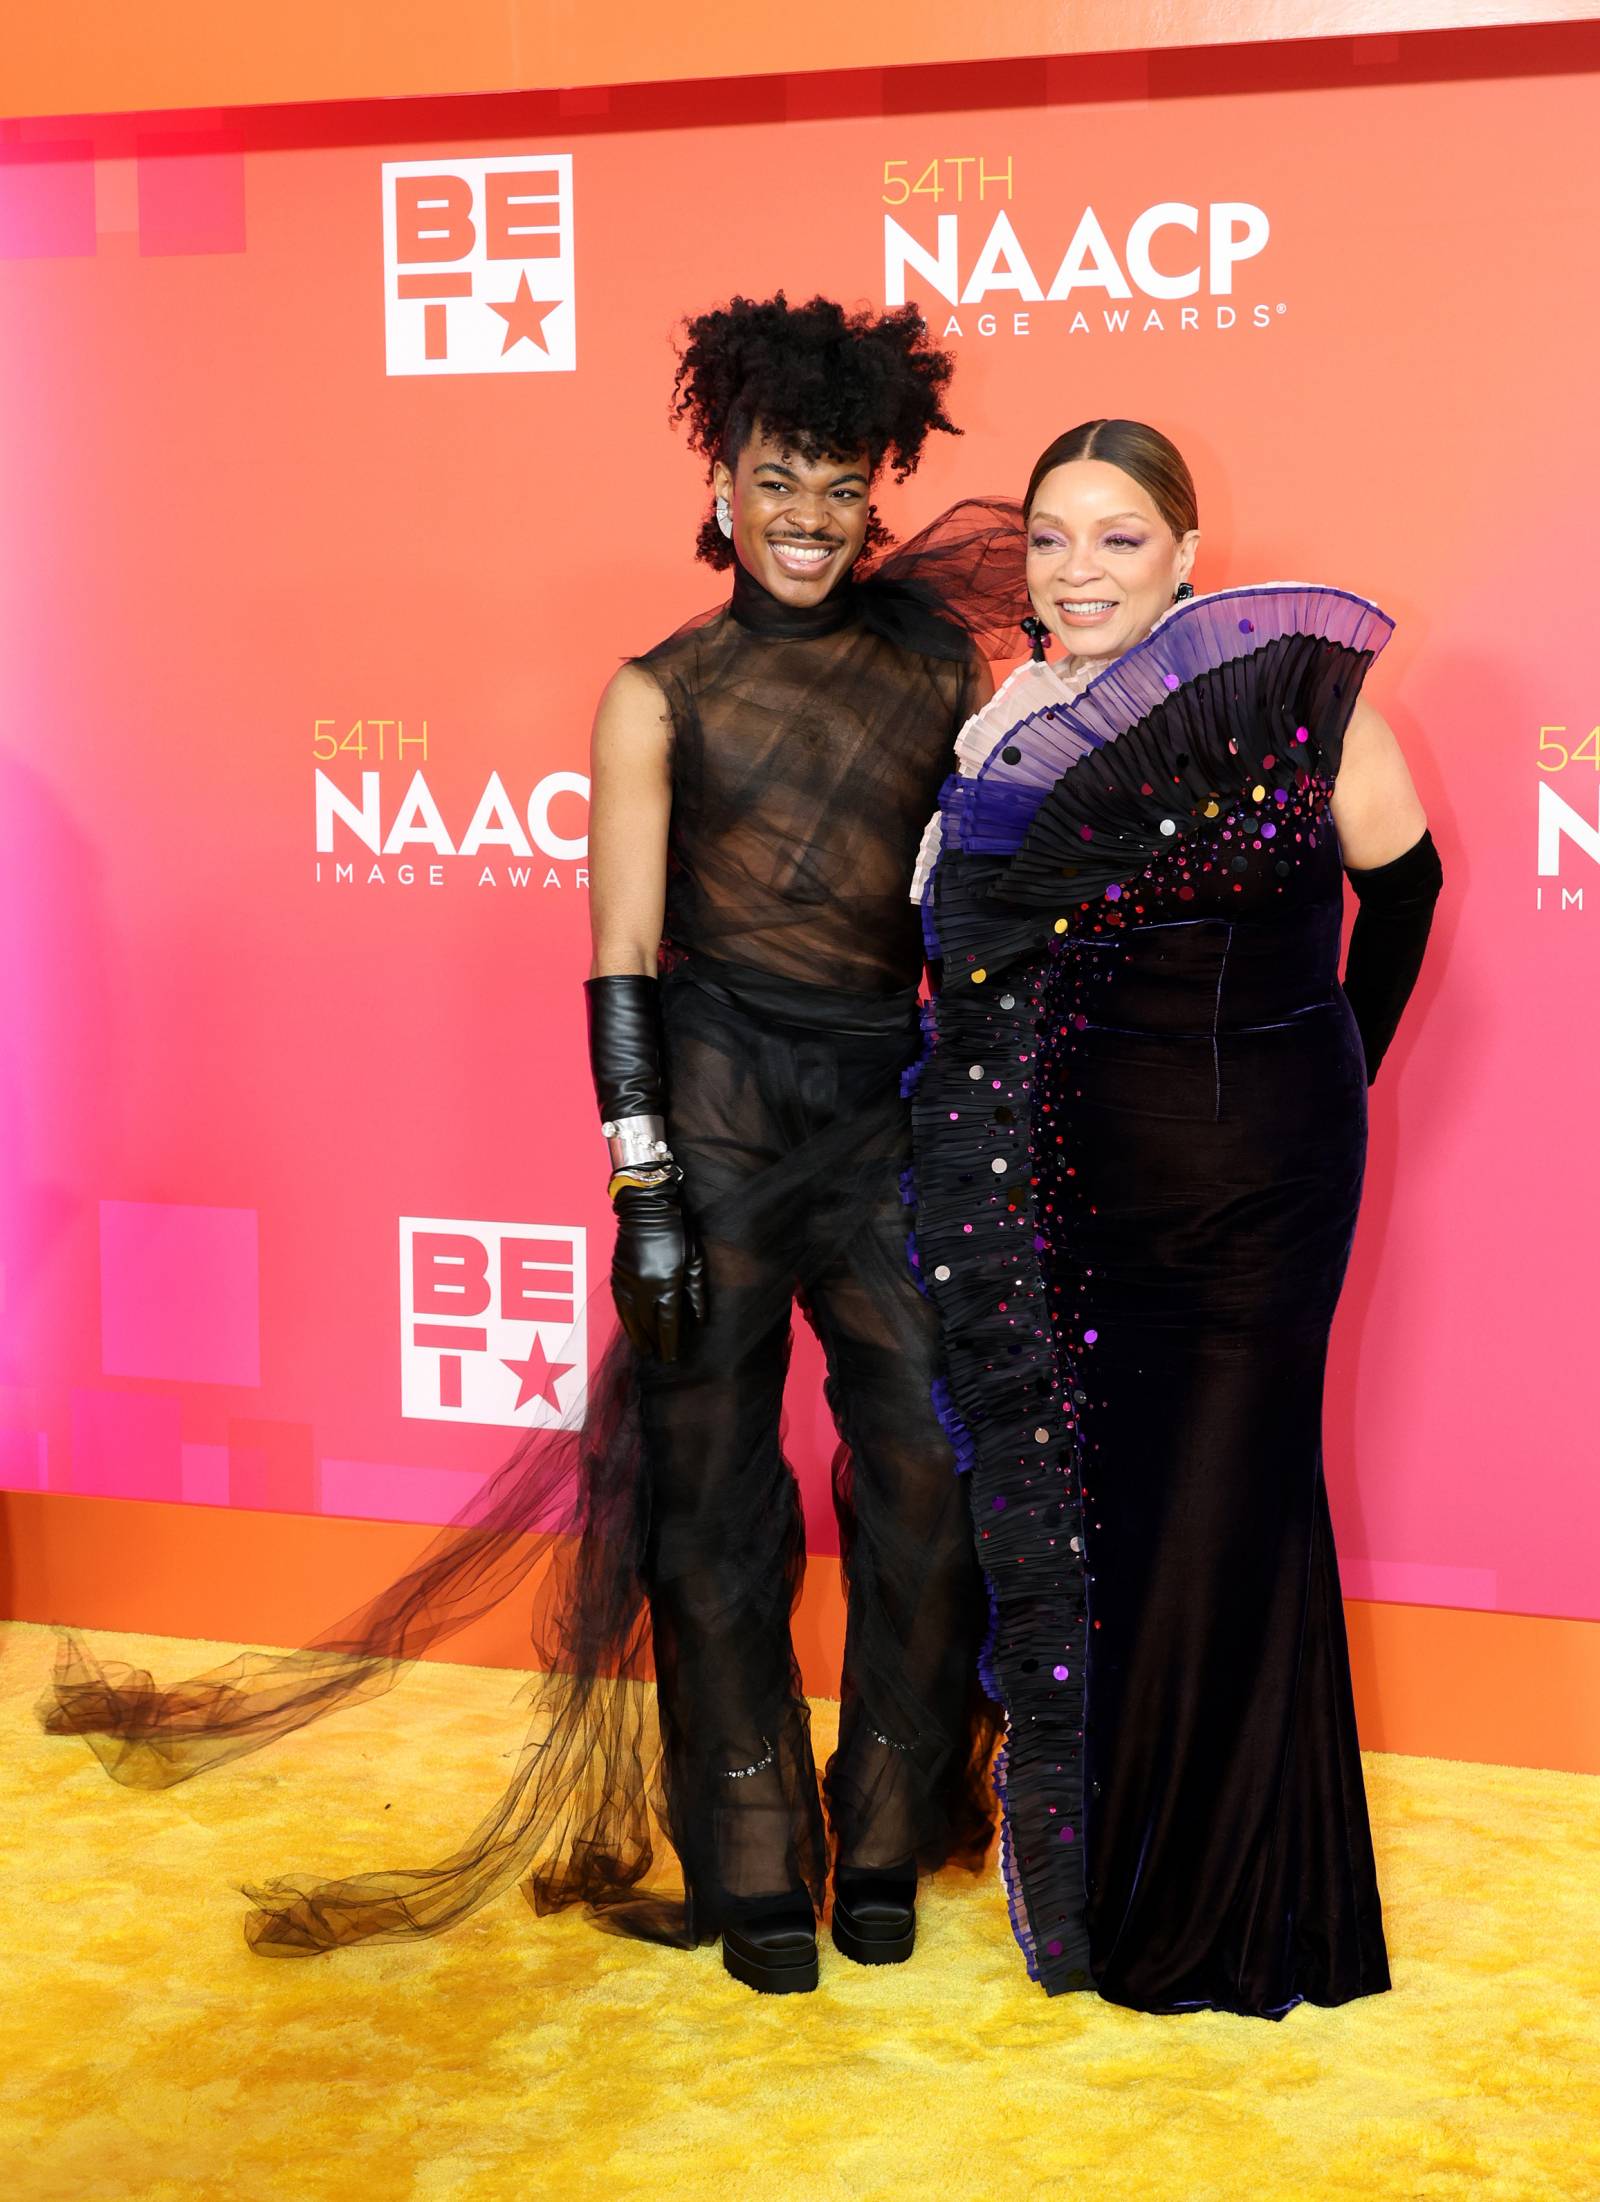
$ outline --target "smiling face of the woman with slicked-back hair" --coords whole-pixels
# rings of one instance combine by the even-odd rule
[[[1197,548],[1199,528],[1173,535],[1131,473],[1074,458],[1034,493],[1028,595],[1074,658],[1116,658],[1162,617]]]

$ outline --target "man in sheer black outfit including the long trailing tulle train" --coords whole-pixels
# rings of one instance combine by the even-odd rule
[[[794,1301],[843,1438],[834,1942],[909,1958],[918,1874],[988,1845],[984,1596],[907,1260],[902,1075],[920,1053],[907,887],[986,694],[973,634],[1017,614],[1021,562],[995,555],[1017,515],[957,506],[863,579],[885,542],[872,487],[949,432],[949,372],[913,310],[735,299],[689,326],[678,414],[715,489],[700,550],[733,595],[629,663],[594,731],[590,1031],[627,1337],[583,1425],[530,1431],[396,1583],[299,1652],[174,1689],[79,1645],[64,1658],[46,1724],[158,1788],[387,1689],[552,1559],[504,1795],[436,1865],[255,1887],[262,1953],[440,1933],[524,1878],[541,1911],[722,1936],[750,1986],[817,1984],[828,1843],[779,1449]],[[684,1903],[651,1887],[656,1817]]]

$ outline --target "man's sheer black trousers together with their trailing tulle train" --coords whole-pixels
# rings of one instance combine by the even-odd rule
[[[982,1588],[927,1407],[931,1310],[905,1264],[898,1075],[913,1004],[885,1004],[878,1033],[808,1037],[772,1015],[786,989],[768,982],[761,1013],[750,995],[764,989],[748,973],[744,986],[678,980],[667,1013],[673,1090],[695,1121],[673,1136],[691,1156],[715,1310],[682,1363],[640,1387],[640,1363],[614,1343],[579,1431],[530,1434],[398,1583],[302,1652],[161,1689],[64,1647],[44,1724],[84,1735],[125,1786],[167,1788],[390,1689],[409,1660],[541,1585],[535,1707],[506,1792],[438,1865],[253,1887],[246,1931],[264,1955],[438,1933],[511,1881],[539,1911],[583,1903],[673,1942],[717,1933],[790,1881],[821,1903],[828,1834],[788,1636],[803,1524],[777,1442],[794,1293],[847,1440],[834,1486],[850,1627],[823,1784],[834,1843],[854,1863],[924,1869],[975,1865],[988,1845]],[[828,1024],[843,1009],[821,991],[801,1006]],[[775,1134],[786,1152],[770,1160]],[[682,1894],[643,1887],[662,1834]]]

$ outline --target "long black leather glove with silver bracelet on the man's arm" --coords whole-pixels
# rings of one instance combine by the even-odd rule
[[[625,973],[585,980],[594,1099],[612,1141],[612,1299],[640,1354],[676,1361],[687,1317],[704,1317],[704,1262],[665,1152],[660,984]],[[660,1143],[660,1154],[656,1145]]]

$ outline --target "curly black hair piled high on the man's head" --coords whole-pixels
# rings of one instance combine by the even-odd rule
[[[759,423],[803,458],[872,454],[902,482],[916,471],[931,432],[960,436],[944,412],[955,372],[949,352],[929,344],[916,306],[845,313],[830,297],[790,306],[775,297],[735,297],[687,324],[673,381],[673,418],[689,423],[689,447],[733,465]],[[876,511],[865,555],[887,544]],[[731,566],[733,544],[706,515],[698,557]]]

